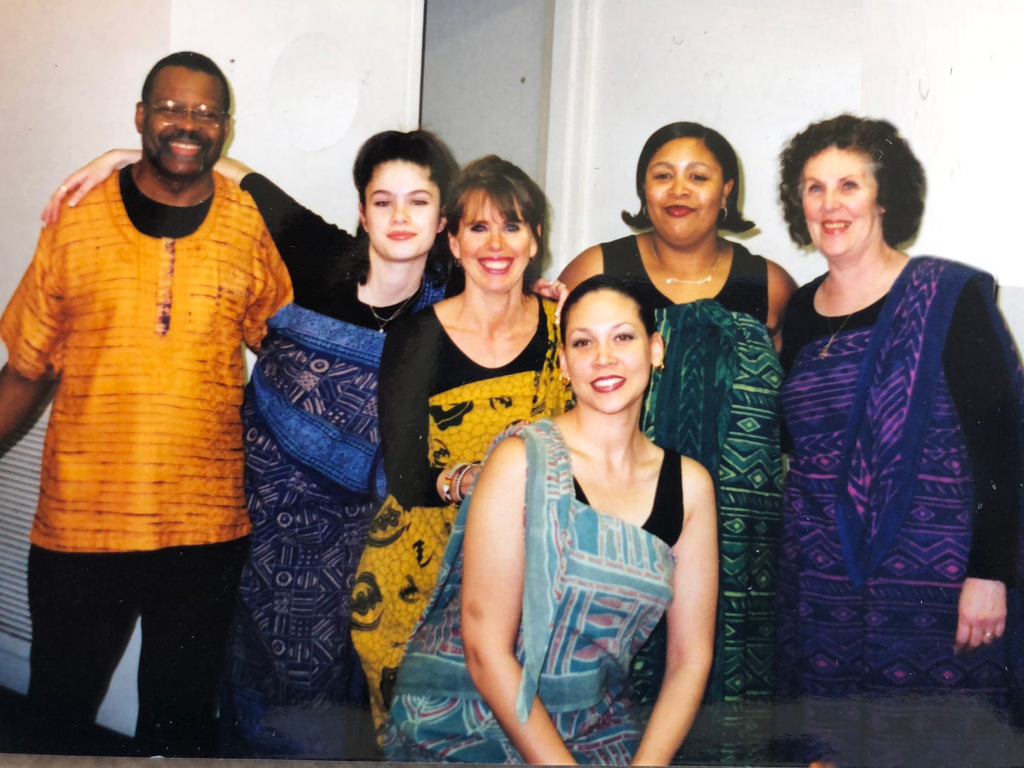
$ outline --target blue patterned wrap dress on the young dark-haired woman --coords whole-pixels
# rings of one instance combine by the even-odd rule
[[[442,295],[427,285],[416,308]],[[222,712],[241,754],[353,757],[347,731],[360,728],[344,720],[372,728],[349,602],[385,486],[377,419],[385,335],[294,303],[267,325],[243,404],[253,532]]]

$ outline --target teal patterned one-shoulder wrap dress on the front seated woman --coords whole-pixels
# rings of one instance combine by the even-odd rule
[[[550,419],[510,427],[495,444],[510,435],[525,440],[528,466],[517,715],[525,720],[539,695],[579,763],[627,764],[643,733],[629,672],[672,599],[672,550],[577,501],[568,449]],[[460,613],[469,501],[406,648],[385,726],[391,761],[523,762],[466,670]]]

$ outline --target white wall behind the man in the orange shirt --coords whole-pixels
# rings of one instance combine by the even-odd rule
[[[139,89],[167,53],[213,57],[234,95],[230,154],[343,226],[356,223],[358,145],[419,120],[422,0],[0,0],[0,306],[28,266],[52,189],[103,150],[138,145]],[[128,733],[137,640],[99,718]],[[26,689],[25,652],[0,638],[0,684]]]

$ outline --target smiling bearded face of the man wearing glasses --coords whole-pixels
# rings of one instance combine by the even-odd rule
[[[205,72],[165,67],[157,73],[148,102],[135,109],[135,128],[142,136],[142,156],[162,177],[189,181],[209,176],[229,132],[224,97],[221,82]],[[187,113],[180,117],[169,106]],[[197,112],[207,110],[222,118],[196,119]]]

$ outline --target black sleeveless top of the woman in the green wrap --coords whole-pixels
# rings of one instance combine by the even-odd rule
[[[768,262],[756,256],[739,243],[732,245],[732,265],[725,285],[715,300],[732,312],[743,312],[767,325],[768,323]],[[650,306],[664,309],[673,301],[651,282],[640,258],[640,247],[635,234],[601,244],[604,255],[604,273],[618,278],[632,278],[644,284]]]

